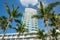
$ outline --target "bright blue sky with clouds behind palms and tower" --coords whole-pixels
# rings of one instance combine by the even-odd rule
[[[56,1],[60,2],[60,0],[0,0],[0,16],[8,15],[5,9],[4,2],[8,3],[10,9],[12,8],[11,7],[12,4],[14,4],[15,7],[20,6],[19,11],[24,13],[24,9],[27,7],[37,9],[39,5],[39,1],[42,1],[45,6],[52,2],[56,2]],[[56,13],[60,13],[60,6],[55,7],[54,10],[56,11]],[[14,22],[12,24],[13,26],[15,26]],[[38,24],[39,28],[44,29],[45,27],[43,24],[44,24],[43,20],[40,20]],[[9,29],[7,31],[7,33],[12,33],[12,32],[15,32],[15,31],[14,30],[12,31],[12,29]]]

